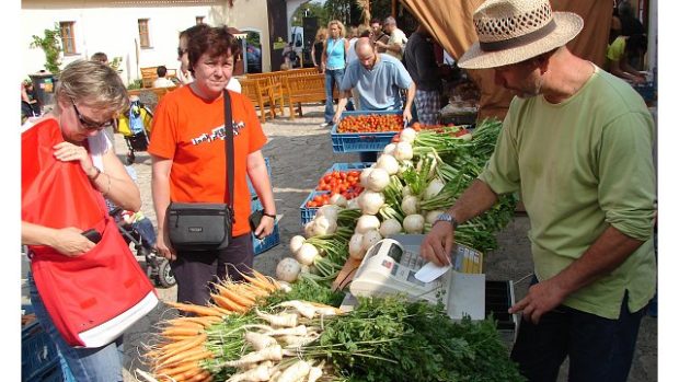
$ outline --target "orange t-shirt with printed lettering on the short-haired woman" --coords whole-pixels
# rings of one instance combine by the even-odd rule
[[[240,93],[231,95],[233,116],[234,236],[250,232],[246,159],[266,143],[254,106]],[[206,102],[191,86],[168,93],[153,115],[149,153],[172,159],[170,200],[226,202],[223,96]]]

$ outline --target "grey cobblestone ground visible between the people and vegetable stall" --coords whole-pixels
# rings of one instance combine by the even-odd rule
[[[264,148],[264,155],[272,164],[274,196],[279,218],[281,244],[255,257],[255,268],[273,275],[277,262],[288,254],[287,243],[290,238],[301,232],[299,206],[312,190],[320,175],[333,163],[358,161],[358,154],[336,154],[332,151],[330,130],[319,125],[323,121],[323,108],[319,105],[304,106],[304,117],[290,120],[278,117],[264,124],[264,131],[269,141]],[[286,111],[287,114],[287,111]],[[127,151],[122,136],[116,136],[117,153],[124,159]],[[151,160],[146,152],[137,153],[134,167],[141,189],[142,211],[156,223],[151,200],[150,173]],[[485,274],[491,280],[519,281],[531,273],[530,246],[526,232],[528,218],[518,216],[498,234],[499,248],[485,254]],[[528,281],[516,286],[516,300],[526,293]],[[176,288],[159,289],[163,301],[176,299]],[[146,369],[140,363],[141,345],[149,342],[156,332],[153,326],[168,316],[168,306],[159,304],[145,320],[138,322],[125,335],[125,381],[136,381],[133,377],[137,368]],[[567,362],[562,368],[559,381],[567,379]],[[638,335],[634,363],[629,381],[657,381],[657,320],[644,317]]]

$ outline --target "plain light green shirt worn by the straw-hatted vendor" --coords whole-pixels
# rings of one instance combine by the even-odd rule
[[[618,319],[655,292],[653,118],[626,83],[596,68],[572,97],[515,97],[480,180],[496,194],[520,192],[530,218],[536,275],[559,274],[609,227],[644,241],[609,275],[575,291],[565,305]]]

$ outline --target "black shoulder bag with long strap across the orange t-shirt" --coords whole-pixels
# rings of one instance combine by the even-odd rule
[[[176,251],[223,250],[233,227],[233,118],[231,97],[225,90],[225,152],[228,202],[171,202],[168,206],[170,243]]]

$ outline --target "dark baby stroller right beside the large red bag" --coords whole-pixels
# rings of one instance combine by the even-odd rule
[[[137,256],[143,257],[149,279],[163,288],[174,286],[176,280],[170,262],[159,256],[156,250],[156,231],[151,220],[141,212],[125,211],[120,207],[114,207],[108,215],[115,219],[118,231],[127,244],[134,244]]]

